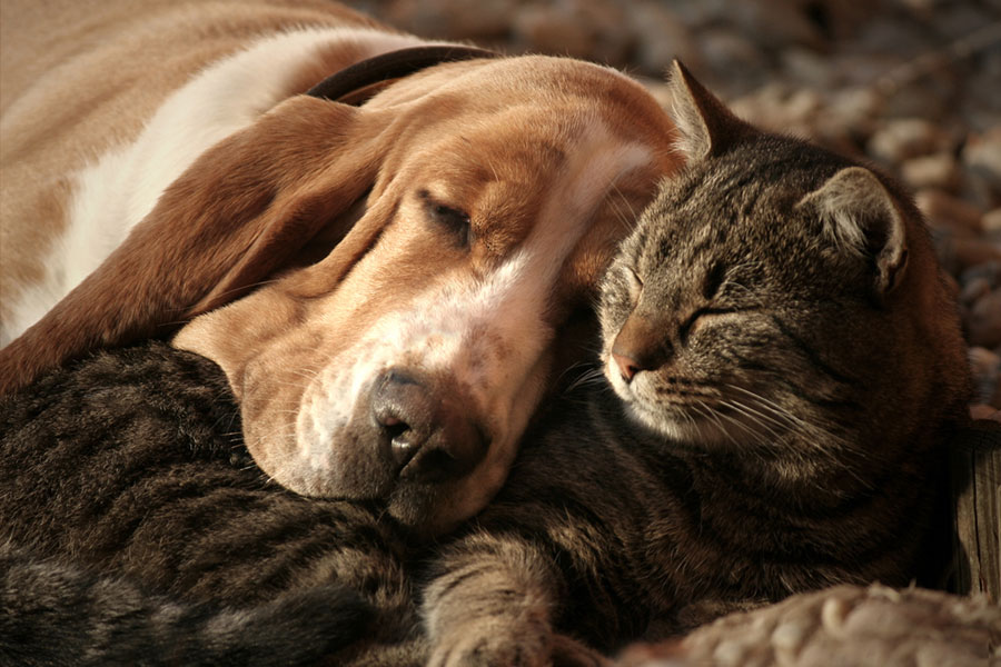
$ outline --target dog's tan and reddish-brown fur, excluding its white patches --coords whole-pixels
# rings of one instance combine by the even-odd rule
[[[43,252],[67,228],[73,173],[135,139],[170,90],[255,36],[374,26],[327,2],[4,0],[2,11],[6,296],[44,272]],[[305,91],[363,56],[358,47],[330,47],[321,68],[294,74],[291,89]],[[88,350],[163,337],[201,315],[176,345],[226,370],[258,462],[295,490],[339,494],[313,472],[297,477],[306,474],[290,470],[290,445],[272,441],[289,428],[285,415],[306,400],[304,377],[340,362],[387,311],[429,287],[475,283],[529,239],[548,238],[543,220],[559,226],[583,217],[571,230],[579,233],[571,250],[554,256],[554,293],[536,306],[552,334],[526,371],[532,388],[516,392],[531,407],[575,360],[572,346],[555,337],[577,329],[568,318],[589,302],[634,213],[676,168],[672,135],[642,87],[568,59],[439,64],[360,108],[293,96],[201,153],[99,269],[0,350],[0,394]],[[592,160],[567,161],[588,141],[597,151]],[[591,165],[628,163],[607,156],[637,146],[648,159],[591,183]],[[470,248],[426,220],[422,192],[469,213]],[[591,208],[572,210],[588,198]],[[0,306],[0,320],[8,308]],[[484,336],[497,359],[518,351]],[[474,390],[440,389],[460,406]],[[508,428],[494,422],[503,410],[469,410],[488,429]],[[474,479],[443,495],[450,507],[432,519],[435,529],[475,511],[511,457],[490,451]]]

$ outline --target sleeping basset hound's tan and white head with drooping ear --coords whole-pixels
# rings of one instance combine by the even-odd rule
[[[98,342],[197,316],[175,345],[226,371],[268,475],[446,530],[575,360],[565,330],[675,168],[672,131],[638,84],[545,57],[438,66],[361,108],[293,98],[81,286],[146,285]]]

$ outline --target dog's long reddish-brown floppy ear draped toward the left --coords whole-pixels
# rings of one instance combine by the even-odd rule
[[[0,350],[0,395],[97,347],[166,336],[236,299],[337,221],[371,186],[380,130],[310,97],[278,104],[206,151],[122,245]]]

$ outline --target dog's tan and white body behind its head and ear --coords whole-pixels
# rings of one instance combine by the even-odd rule
[[[250,2],[195,11],[177,2],[4,0],[0,346],[97,269],[212,143],[304,83],[419,43],[313,4],[286,17]],[[228,24],[212,34],[219,20]],[[237,54],[258,33],[300,22],[343,23],[344,38],[321,52],[319,32],[298,31]]]

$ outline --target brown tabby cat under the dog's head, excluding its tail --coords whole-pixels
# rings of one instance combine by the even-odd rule
[[[552,404],[447,542],[267,485],[226,435],[218,369],[158,345],[2,404],[0,538],[197,605],[353,589],[376,616],[338,664],[597,664],[733,608],[922,574],[969,378],[919,213],[682,68],[672,88],[690,165],[605,280],[607,379]]]

